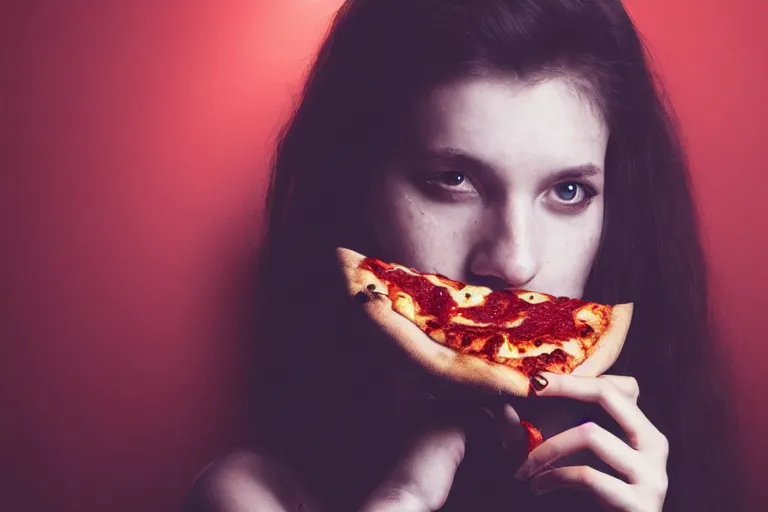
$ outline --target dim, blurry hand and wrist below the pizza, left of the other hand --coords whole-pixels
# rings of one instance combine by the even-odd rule
[[[364,512],[431,512],[448,498],[464,458],[465,435],[458,427],[436,427],[418,436],[389,477],[371,494]]]

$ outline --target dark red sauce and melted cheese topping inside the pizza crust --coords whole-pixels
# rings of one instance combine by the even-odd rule
[[[432,339],[490,362],[514,362],[528,376],[567,372],[577,365],[575,354],[584,349],[581,341],[594,333],[586,321],[600,320],[600,311],[579,299],[509,289],[457,295],[468,285],[438,274],[421,274],[375,258],[364,258],[360,268],[386,283],[385,293],[395,307],[410,311],[408,316]],[[462,299],[466,302],[460,305]]]

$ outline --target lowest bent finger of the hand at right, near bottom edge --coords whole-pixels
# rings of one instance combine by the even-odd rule
[[[562,487],[577,487],[592,493],[609,509],[636,510],[631,485],[589,466],[568,466],[545,471],[531,479],[531,491],[544,494]]]

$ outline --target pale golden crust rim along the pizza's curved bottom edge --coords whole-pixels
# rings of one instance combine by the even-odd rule
[[[522,372],[443,346],[433,341],[413,321],[392,309],[392,301],[386,295],[387,285],[372,272],[359,268],[365,256],[338,248],[337,258],[349,295],[358,300],[364,299],[360,302],[367,316],[425,370],[437,377],[493,393],[523,397],[531,394],[530,381]],[[610,368],[624,345],[631,317],[632,304],[613,306],[608,331],[573,374],[596,377]]]

